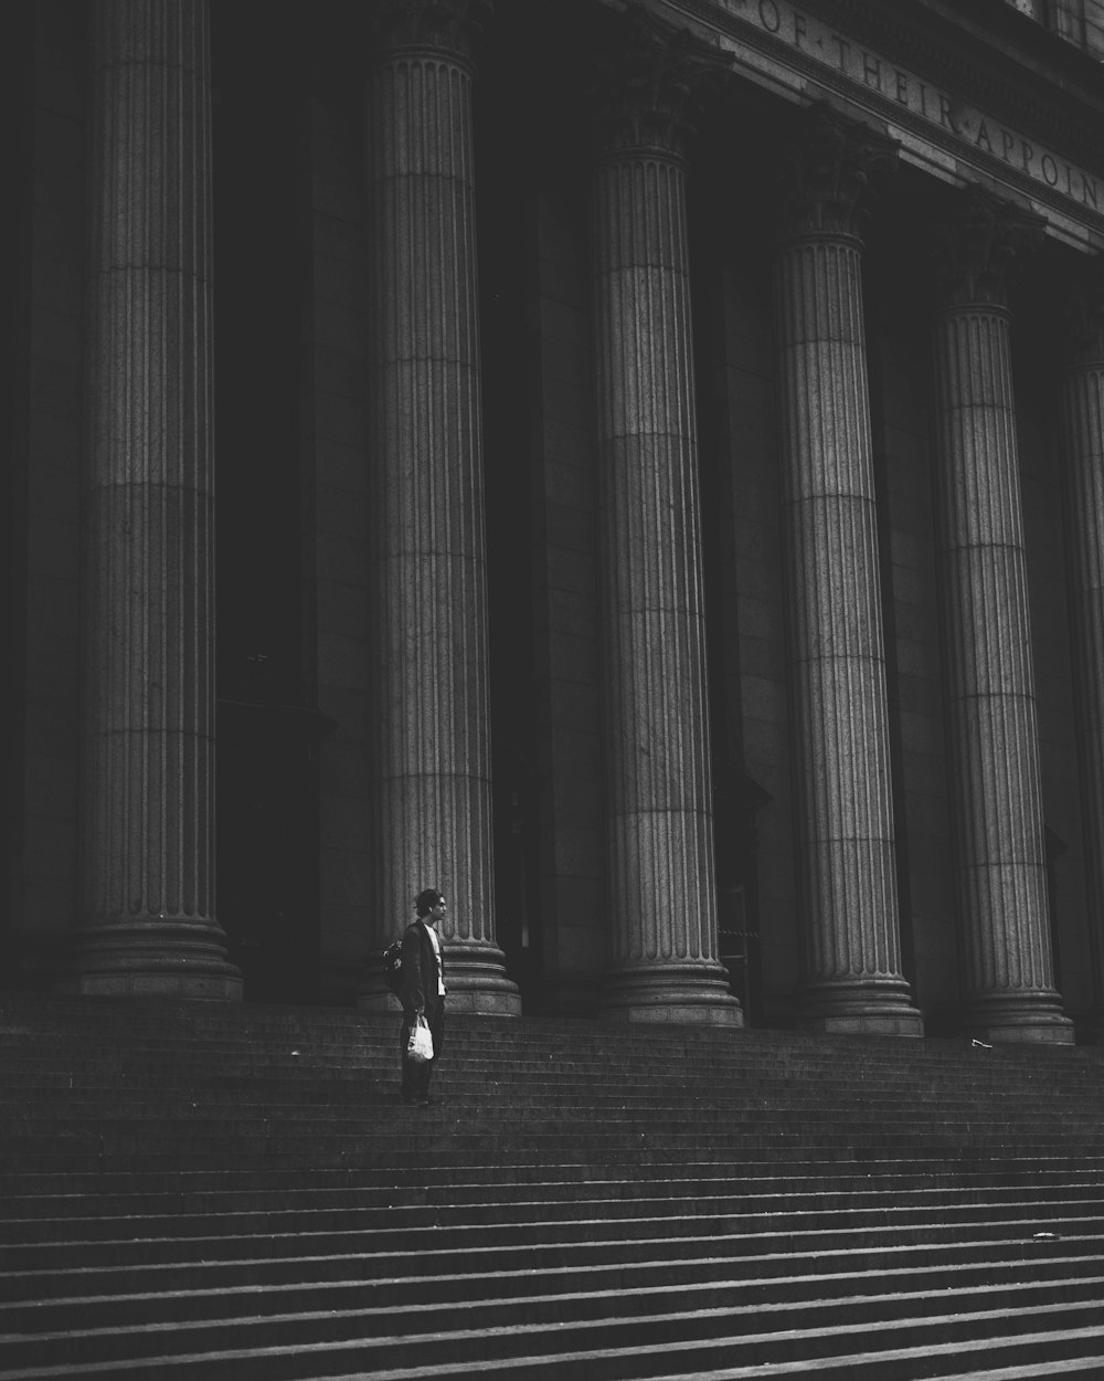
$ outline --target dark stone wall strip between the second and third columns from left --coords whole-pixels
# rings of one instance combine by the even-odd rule
[[[585,220],[571,189],[527,209],[542,1001],[592,1007],[604,958],[599,597]]]

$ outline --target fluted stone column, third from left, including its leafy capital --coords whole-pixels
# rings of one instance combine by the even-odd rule
[[[686,87],[713,61],[629,15],[593,175],[607,1016],[741,1025],[718,960]]]

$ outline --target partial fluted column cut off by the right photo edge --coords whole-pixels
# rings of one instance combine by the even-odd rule
[[[1104,1030],[1104,264],[1075,300],[1061,384],[1065,548],[1093,1019]]]

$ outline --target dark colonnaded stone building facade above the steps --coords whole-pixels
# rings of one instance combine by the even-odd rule
[[[6,26],[0,985],[1096,1039],[1104,6]]]

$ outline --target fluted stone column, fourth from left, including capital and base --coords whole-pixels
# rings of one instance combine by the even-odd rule
[[[858,202],[894,145],[822,106],[792,151],[778,377],[810,1030],[920,1036],[901,976]]]

